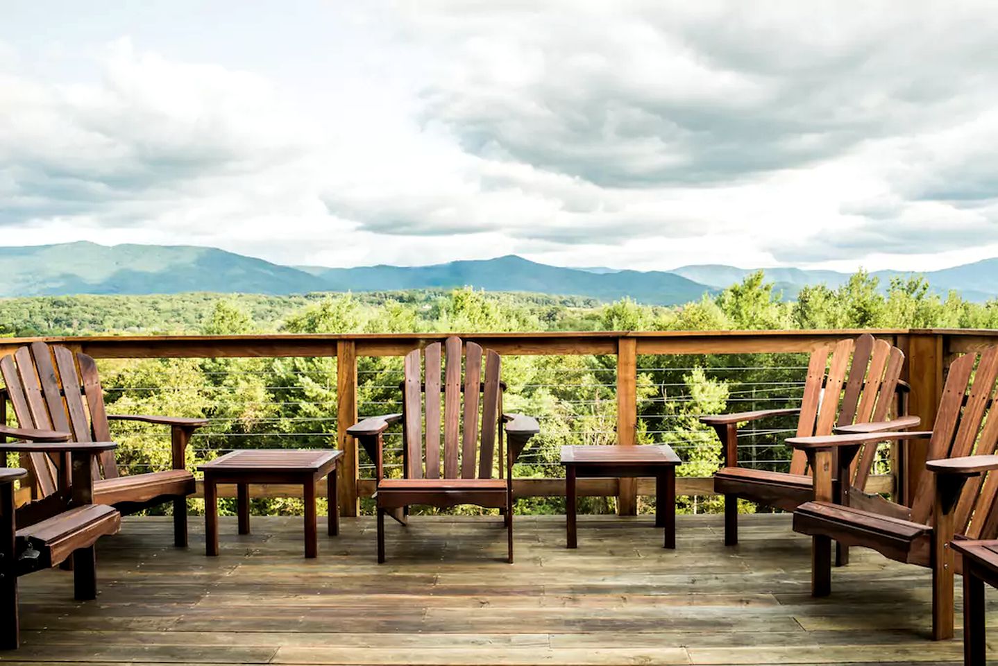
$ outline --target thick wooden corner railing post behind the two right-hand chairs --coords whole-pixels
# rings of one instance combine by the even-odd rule
[[[932,430],[936,409],[942,397],[945,364],[943,336],[939,333],[913,332],[898,338],[901,349],[907,357],[907,381],[911,385],[908,411],[921,418],[919,430]],[[925,472],[928,441],[908,442],[904,450],[899,453],[904,457],[903,499],[904,503],[910,505],[912,495],[918,488],[918,481]]]

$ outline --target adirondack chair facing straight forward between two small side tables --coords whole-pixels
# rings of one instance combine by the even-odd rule
[[[499,508],[505,515],[509,541],[508,557],[510,562],[513,561],[513,464],[530,438],[540,432],[540,429],[537,421],[530,417],[503,414],[502,391],[505,386],[500,379],[499,354],[491,349],[485,350],[485,378],[482,381],[482,348],[474,342],[469,342],[464,347],[466,357],[463,385],[460,338],[447,338],[444,344],[446,368],[443,385],[440,383],[440,343],[428,345],[422,353],[414,349],[405,356],[405,379],[401,386],[402,414],[365,419],[347,431],[360,442],[364,451],[374,461],[377,477],[375,499],[379,563],[384,561],[385,513],[390,513],[400,522],[404,522],[404,514],[410,504],[429,504],[440,508],[456,504],[477,504]],[[423,382],[420,382],[420,356],[425,357]],[[441,393],[444,394],[442,475]],[[481,398],[480,440],[479,398]],[[425,440],[422,433],[424,414]],[[382,434],[390,425],[398,422],[402,423],[404,476],[402,479],[387,479],[383,469]],[[500,463],[499,478],[493,479],[493,461],[497,445],[500,458],[502,457],[503,424],[506,426],[505,433],[508,440],[506,470],[504,475]]]

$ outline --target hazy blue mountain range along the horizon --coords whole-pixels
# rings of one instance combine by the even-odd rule
[[[190,245],[99,245],[72,242],[0,247],[0,297],[68,294],[168,294],[187,291],[291,294],[315,291],[395,291],[474,286],[676,305],[741,281],[752,269],[690,265],[669,271],[565,268],[516,255],[429,266],[329,268],[284,266],[235,252]],[[807,284],[836,287],[849,275],[829,270],[766,268],[784,297]],[[882,284],[908,273],[873,273]],[[924,273],[932,287],[964,298],[998,297],[998,259]]]

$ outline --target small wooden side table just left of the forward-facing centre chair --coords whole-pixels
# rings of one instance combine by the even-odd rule
[[[336,463],[342,451],[246,449],[234,451],[198,469],[205,473],[205,553],[219,554],[219,484],[236,484],[240,533],[250,533],[250,484],[300,484],[304,489],[305,557],[318,554],[315,484],[328,477],[328,530],[339,532]]]

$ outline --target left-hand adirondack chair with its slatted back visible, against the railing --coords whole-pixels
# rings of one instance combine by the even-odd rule
[[[0,375],[21,427],[20,437],[26,440],[45,442],[38,440],[33,431],[58,431],[73,442],[107,442],[111,440],[108,422],[113,420],[170,426],[172,470],[119,475],[114,453],[105,450],[98,455],[99,465],[93,468],[94,501],[111,504],[124,514],[173,501],[174,542],[187,545],[187,498],[195,492],[195,481],[186,469],[184,456],[191,435],[208,424],[206,419],[107,414],[94,359],[44,342],[21,347],[0,359]],[[51,458],[45,452],[33,451],[22,460],[38,492],[43,496],[52,494],[58,480]]]

